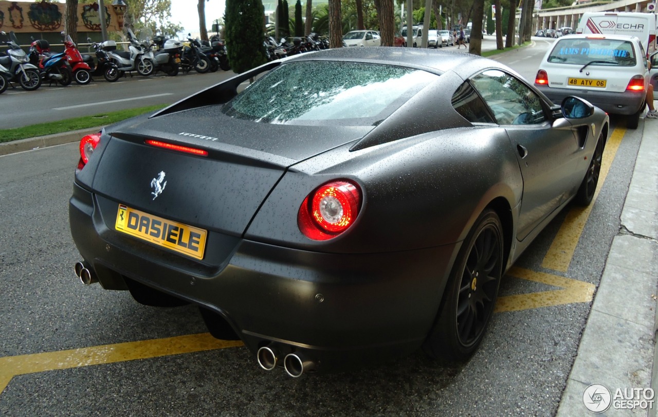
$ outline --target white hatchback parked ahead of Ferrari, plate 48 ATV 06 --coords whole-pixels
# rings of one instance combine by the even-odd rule
[[[556,104],[576,95],[638,127],[649,68],[640,39],[620,35],[565,35],[540,64],[535,86]]]

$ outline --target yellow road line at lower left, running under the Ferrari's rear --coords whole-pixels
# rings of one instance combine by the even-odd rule
[[[9,381],[17,375],[155,358],[157,356],[180,355],[182,353],[210,351],[242,345],[241,341],[218,340],[210,333],[199,333],[167,337],[166,339],[82,347],[58,352],[4,356],[0,357],[0,393],[7,387]]]

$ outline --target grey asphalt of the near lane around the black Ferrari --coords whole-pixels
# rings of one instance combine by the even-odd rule
[[[499,61],[518,60],[513,67],[527,73],[540,47]],[[638,132],[624,133],[566,270],[545,262],[551,245],[578,228],[565,222],[570,208],[506,276],[468,364],[445,366],[417,352],[297,379],[261,370],[244,347],[208,347],[196,336],[206,330],[193,307],[143,307],[126,292],[78,282],[67,208],[76,143],[0,157],[0,414],[551,416],[590,311],[588,291],[619,232],[639,142]],[[582,300],[560,299],[563,288]],[[178,338],[186,335],[193,336]]]

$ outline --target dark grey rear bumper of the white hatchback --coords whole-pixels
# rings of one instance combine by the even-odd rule
[[[635,114],[640,109],[640,106],[644,105],[644,99],[646,97],[646,92],[644,91],[642,93],[635,91],[611,93],[607,91],[538,86],[537,84],[535,84],[535,87],[539,91],[542,91],[555,104],[562,103],[565,97],[575,95],[576,97],[586,99],[609,114],[622,114],[625,116]]]

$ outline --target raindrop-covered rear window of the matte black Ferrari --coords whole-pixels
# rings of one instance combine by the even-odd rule
[[[367,126],[380,122],[438,75],[401,66],[290,62],[224,105],[228,116],[277,124]]]

